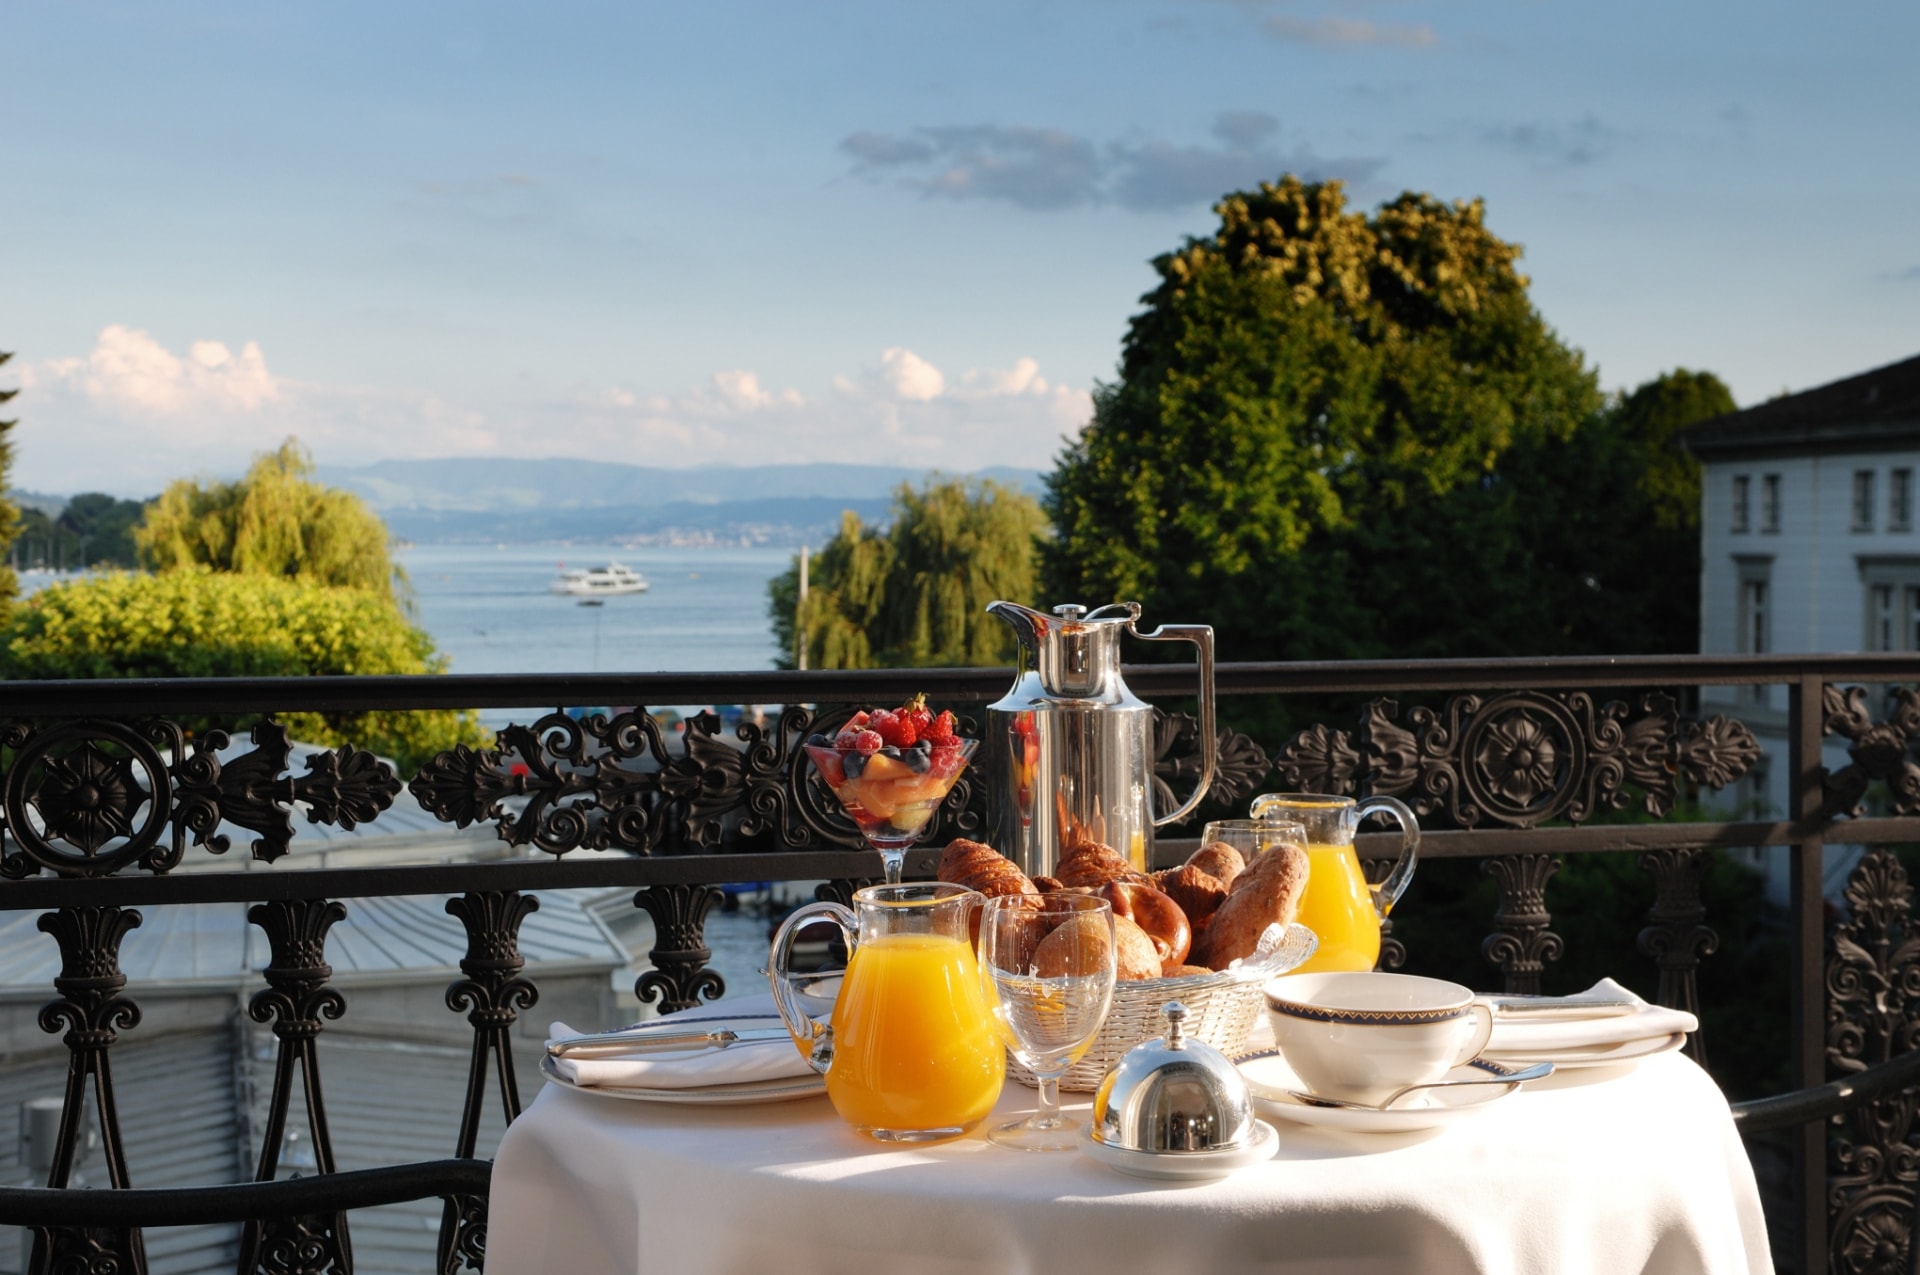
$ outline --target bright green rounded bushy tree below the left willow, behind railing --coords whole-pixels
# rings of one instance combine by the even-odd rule
[[[428,672],[445,672],[445,659],[390,597],[205,566],[48,586],[0,628],[0,678],[10,680]],[[355,743],[403,770],[457,743],[482,743],[472,712],[276,716],[296,739]]]

